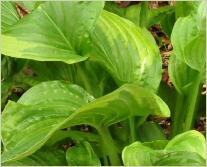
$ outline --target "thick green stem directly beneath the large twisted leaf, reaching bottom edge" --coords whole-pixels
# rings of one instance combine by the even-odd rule
[[[108,128],[102,127],[97,130],[102,139],[102,144],[103,144],[103,149],[105,151],[105,155],[109,156],[110,165],[120,166],[121,161],[118,155],[118,148],[116,147]]]

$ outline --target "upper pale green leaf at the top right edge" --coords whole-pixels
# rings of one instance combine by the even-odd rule
[[[189,61],[195,61],[194,64],[199,59],[203,61],[203,52],[205,52],[204,36],[206,31],[204,5],[204,3],[200,3],[200,5],[196,7],[197,13],[179,18],[173,27],[171,35],[173,52],[184,62],[186,61],[186,56],[192,59]],[[202,43],[201,46],[198,45],[199,41]],[[191,48],[192,46],[194,46],[194,48]],[[199,57],[197,57],[196,54],[194,54],[195,51],[193,51],[196,47],[199,48],[199,53],[201,53]],[[193,53],[190,53],[190,51],[188,51],[189,49],[191,49]],[[190,56],[187,55],[189,53]]]

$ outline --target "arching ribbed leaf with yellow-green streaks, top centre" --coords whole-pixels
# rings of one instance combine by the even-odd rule
[[[161,79],[159,50],[151,34],[103,11],[92,34],[94,56],[118,85],[136,82],[156,90]]]

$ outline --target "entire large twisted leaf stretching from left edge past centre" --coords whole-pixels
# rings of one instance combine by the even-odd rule
[[[158,96],[136,84],[123,85],[90,102],[92,100],[76,85],[50,81],[28,90],[18,103],[9,102],[2,115],[5,147],[2,161],[32,154],[56,130],[64,127],[80,124],[107,127],[134,115],[170,116],[167,105]]]

